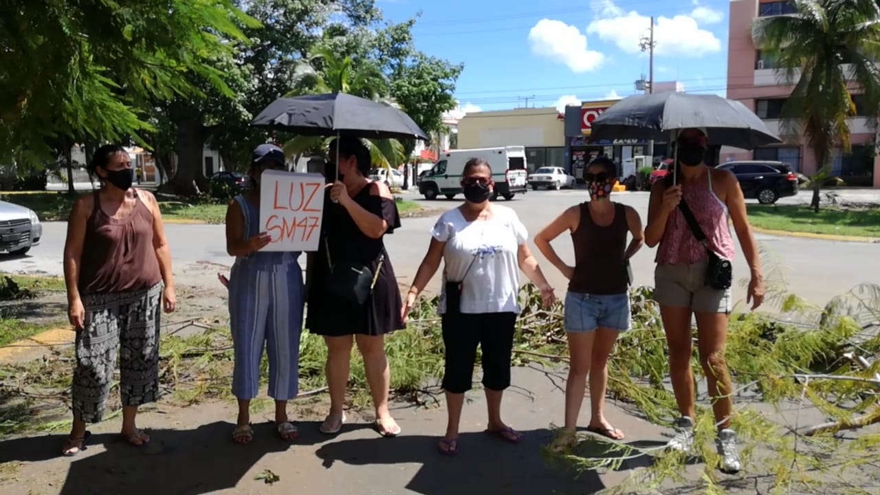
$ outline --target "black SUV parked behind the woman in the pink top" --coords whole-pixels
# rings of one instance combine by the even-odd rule
[[[729,161],[717,168],[733,172],[745,198],[761,204],[797,194],[797,174],[781,161]]]

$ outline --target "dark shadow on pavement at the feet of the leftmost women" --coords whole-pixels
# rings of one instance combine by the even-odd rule
[[[147,430],[150,444],[143,447],[129,445],[118,433],[93,434],[84,452],[70,457],[67,477],[57,493],[201,495],[234,489],[265,455],[327,440],[317,431],[316,423],[297,426],[299,438],[284,442],[278,438],[274,424],[253,425],[253,441],[248,446],[232,443],[233,425],[224,421],[194,430]],[[0,464],[56,459],[64,438],[48,435],[0,442]],[[375,443],[373,440],[374,448]],[[90,445],[101,445],[106,450],[91,454]],[[283,477],[283,473],[276,474]]]

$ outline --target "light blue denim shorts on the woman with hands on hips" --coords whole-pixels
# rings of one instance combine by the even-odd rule
[[[630,321],[629,294],[568,292],[565,295],[567,332],[591,332],[599,327],[623,332],[630,328]]]

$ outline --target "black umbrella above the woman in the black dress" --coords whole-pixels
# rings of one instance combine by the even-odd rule
[[[279,98],[260,112],[251,125],[302,136],[428,140],[413,119],[397,108],[344,92]]]

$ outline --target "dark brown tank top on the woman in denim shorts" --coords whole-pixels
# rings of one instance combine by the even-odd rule
[[[590,216],[590,203],[581,203],[581,220],[571,233],[575,244],[575,276],[569,292],[596,295],[627,293],[627,210],[614,204],[611,225],[600,226]]]

